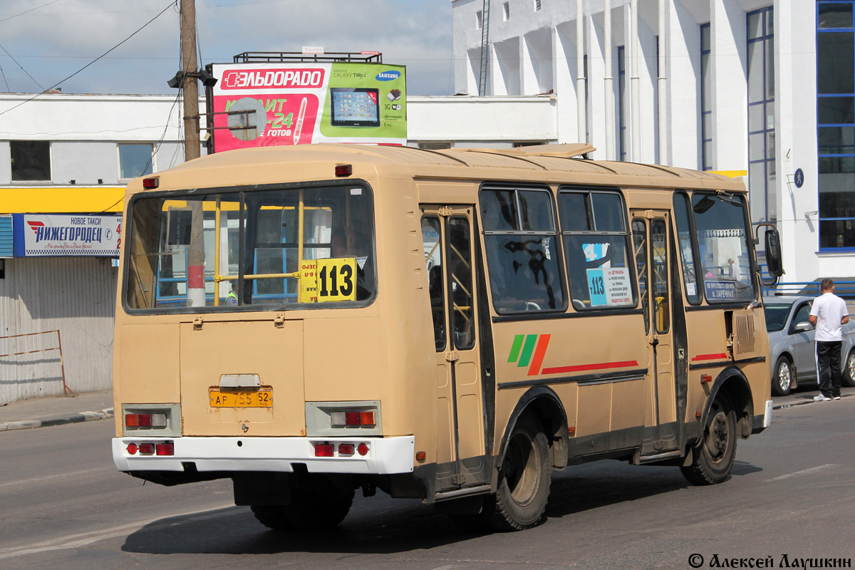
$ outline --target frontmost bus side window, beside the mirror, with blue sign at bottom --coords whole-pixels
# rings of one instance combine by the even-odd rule
[[[692,209],[707,302],[752,301],[757,294],[744,200],[728,194],[695,193]]]

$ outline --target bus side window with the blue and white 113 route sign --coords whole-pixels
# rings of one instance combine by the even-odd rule
[[[626,209],[616,192],[562,191],[558,216],[573,308],[636,304],[628,258]]]

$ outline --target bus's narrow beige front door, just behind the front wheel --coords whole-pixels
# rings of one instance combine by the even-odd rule
[[[657,210],[634,211],[633,246],[639,275],[642,308],[645,314],[647,343],[650,346],[647,365],[650,379],[646,391],[645,434],[641,456],[658,455],[679,447],[677,429],[676,386],[674,370],[674,335],[670,293],[669,249],[670,217]]]

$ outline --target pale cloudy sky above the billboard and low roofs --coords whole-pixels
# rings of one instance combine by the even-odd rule
[[[0,92],[174,93],[178,4],[3,0]],[[409,95],[451,94],[450,0],[196,0],[196,12],[200,67],[245,51],[371,50],[407,67]]]

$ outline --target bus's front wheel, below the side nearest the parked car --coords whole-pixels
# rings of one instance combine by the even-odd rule
[[[736,457],[736,412],[727,394],[719,393],[707,414],[692,464],[680,467],[694,485],[715,485],[730,477]]]

